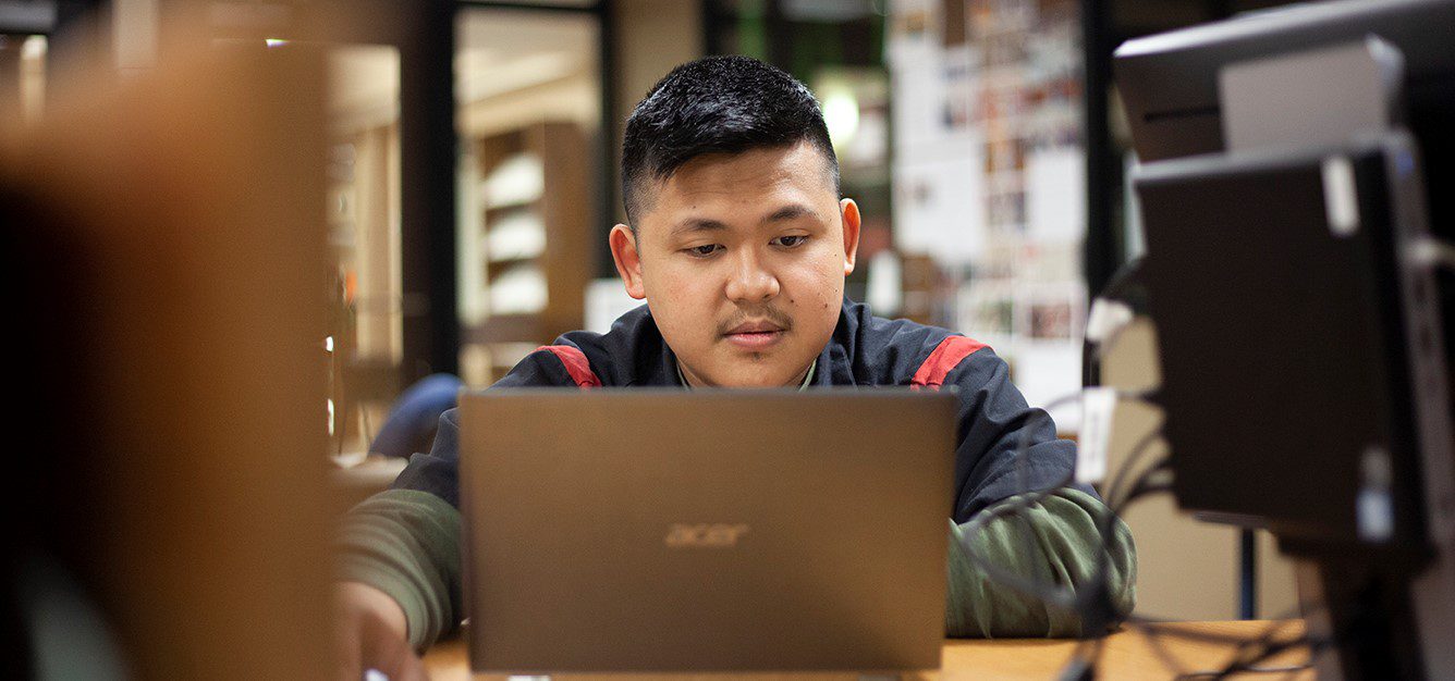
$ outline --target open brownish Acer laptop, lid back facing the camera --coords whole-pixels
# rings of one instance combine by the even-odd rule
[[[938,669],[954,412],[904,389],[463,395],[471,668]]]

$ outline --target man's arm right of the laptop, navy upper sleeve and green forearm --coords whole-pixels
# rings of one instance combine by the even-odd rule
[[[1055,423],[1026,404],[1005,362],[988,347],[960,360],[944,385],[953,385],[960,398],[946,630],[953,636],[1078,635],[1078,613],[1055,610],[991,581],[965,553],[973,550],[1027,579],[1084,588],[1103,550],[1096,518],[1110,511],[1090,486],[1067,486],[1075,469],[1075,444],[1056,439]],[[991,518],[976,536],[965,537],[978,514],[1043,489],[1053,492],[1024,513]],[[1119,613],[1129,613],[1136,549],[1120,520],[1113,520],[1106,550],[1112,566],[1107,597]]]

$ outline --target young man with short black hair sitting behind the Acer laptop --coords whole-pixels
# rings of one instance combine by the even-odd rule
[[[678,67],[631,113],[621,177],[630,225],[611,229],[611,254],[627,292],[647,305],[605,335],[576,331],[538,348],[496,386],[957,386],[947,633],[1077,635],[1075,613],[994,584],[962,543],[1005,569],[1078,588],[1096,569],[1096,518],[1106,507],[1090,489],[1059,488],[1020,514],[1029,523],[995,518],[963,536],[975,514],[1027,491],[1018,485],[1065,481],[1074,446],[1026,405],[991,348],[872,317],[844,298],[858,206],[840,197],[838,161],[808,89],[745,57]],[[464,616],[457,425],[447,412],[434,452],[416,454],[393,489],[346,520],[339,591],[352,678],[361,666],[409,678],[412,648]],[[832,523],[825,510],[825,531]],[[1107,550],[1109,597],[1129,611],[1136,563],[1120,521]]]

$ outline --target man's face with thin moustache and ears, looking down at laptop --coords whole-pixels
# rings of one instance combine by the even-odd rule
[[[858,208],[838,200],[824,152],[802,142],[704,154],[645,190],[639,238],[617,225],[611,254],[687,380],[803,380],[838,324],[858,250]]]

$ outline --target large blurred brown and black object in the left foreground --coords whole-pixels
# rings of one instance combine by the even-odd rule
[[[0,144],[26,393],[6,668],[64,675],[42,652],[84,656],[70,637],[97,632],[116,659],[92,678],[324,678],[322,58],[163,64],[57,81],[44,123]],[[15,594],[22,560],[86,607]]]

